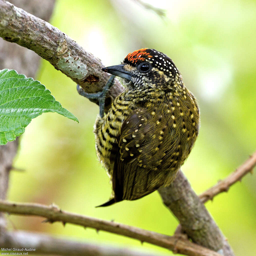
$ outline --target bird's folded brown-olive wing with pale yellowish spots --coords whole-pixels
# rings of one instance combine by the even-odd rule
[[[119,147],[110,156],[116,202],[141,198],[163,185],[164,175],[161,179],[158,171],[167,126],[161,111],[145,108],[135,109],[123,122]]]

